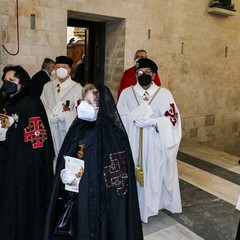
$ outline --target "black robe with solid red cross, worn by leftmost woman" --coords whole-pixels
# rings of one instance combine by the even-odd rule
[[[54,157],[46,113],[24,90],[1,101],[5,111],[15,122],[0,142],[0,238],[42,240]]]

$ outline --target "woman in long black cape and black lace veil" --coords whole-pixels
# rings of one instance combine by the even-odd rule
[[[92,89],[91,85],[83,89],[85,101],[86,89],[89,86]],[[85,101],[80,103],[78,117],[58,156],[44,240],[142,240],[134,163],[127,133],[109,89],[101,85],[91,91],[99,94],[99,109],[95,108],[95,111],[98,109],[97,117],[87,117],[89,114],[80,107]],[[64,190],[60,177],[65,170],[64,156],[84,160],[78,193]],[[70,195],[75,199],[73,236],[61,236],[56,232],[59,200]]]

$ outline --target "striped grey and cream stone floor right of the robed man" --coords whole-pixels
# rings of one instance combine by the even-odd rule
[[[178,154],[183,212],[160,211],[143,224],[144,240],[235,240],[240,157],[182,141]]]

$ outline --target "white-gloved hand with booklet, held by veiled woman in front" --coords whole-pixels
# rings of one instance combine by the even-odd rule
[[[65,190],[78,192],[79,182],[84,173],[84,161],[70,156],[64,156],[64,159],[65,169],[61,172],[61,178],[65,183]]]

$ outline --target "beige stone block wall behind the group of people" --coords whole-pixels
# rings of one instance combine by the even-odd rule
[[[1,0],[2,43],[17,51],[16,2]],[[3,48],[1,68],[32,75],[44,57],[66,54],[69,11],[106,22],[105,83],[116,97],[124,69],[144,48],[159,66],[181,112],[183,138],[240,156],[240,3],[235,16],[208,13],[208,0],[22,0],[17,55]],[[35,29],[31,29],[31,14]]]

